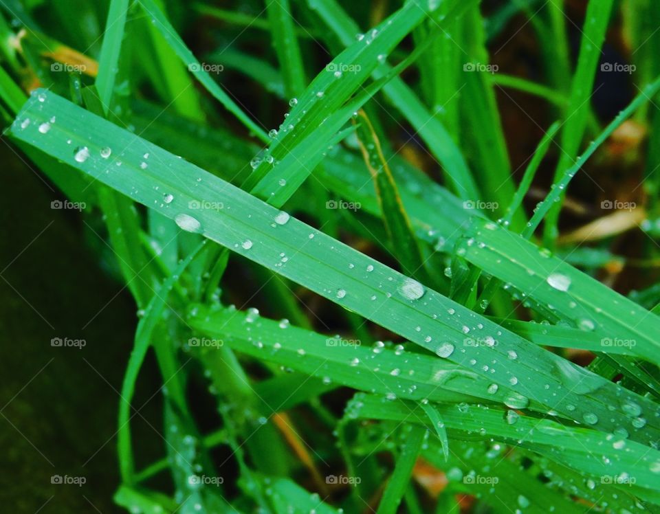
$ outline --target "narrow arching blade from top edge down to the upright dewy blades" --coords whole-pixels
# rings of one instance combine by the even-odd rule
[[[201,85],[206,87],[209,93],[218,100],[225,109],[232,113],[236,118],[247,128],[250,132],[259,137],[263,142],[267,142],[268,136],[257,125],[252,121],[248,115],[246,115],[241,108],[236,105],[236,102],[232,100],[225,91],[215,82],[211,76],[208,74],[208,71],[199,63],[199,60],[192,55],[190,49],[186,46],[186,43],[181,39],[179,34],[175,31],[174,27],[170,24],[165,14],[158,8],[154,0],[140,0],[140,5],[146,12],[147,16],[151,19],[151,23],[155,25],[155,28],[159,31],[161,36],[165,41],[170,45],[174,52],[179,56],[181,61],[188,67],[190,73],[192,73],[197,80],[201,82]]]

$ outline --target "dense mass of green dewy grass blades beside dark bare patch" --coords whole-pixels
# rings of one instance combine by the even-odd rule
[[[660,19],[563,3],[1,3],[5,138],[102,220],[139,315],[116,504],[660,511]],[[520,26],[535,80],[495,64]],[[569,237],[597,201],[626,208]]]

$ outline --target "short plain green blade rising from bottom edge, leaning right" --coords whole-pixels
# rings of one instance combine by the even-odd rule
[[[408,435],[401,448],[401,453],[397,456],[394,471],[387,482],[376,514],[395,514],[399,509],[399,504],[412,475],[412,467],[415,466],[421,445],[428,434],[425,427],[410,425],[406,428],[409,430]]]

